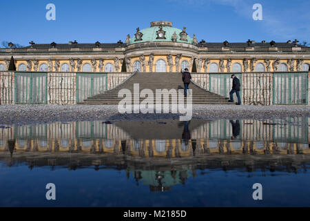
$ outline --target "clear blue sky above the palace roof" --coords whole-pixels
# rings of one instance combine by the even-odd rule
[[[262,0],[132,0],[1,1],[1,41],[28,46],[40,43],[114,43],[150,21],[172,21],[198,41],[310,42],[310,1]],[[56,21],[47,21],[45,6],[54,3]],[[262,5],[262,21],[254,21],[252,6]],[[4,22],[3,22],[4,21]]]

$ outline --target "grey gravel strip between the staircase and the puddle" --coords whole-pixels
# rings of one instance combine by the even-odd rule
[[[178,119],[180,114],[120,114],[117,106],[1,105],[0,125],[90,120]],[[193,105],[194,119],[272,119],[310,117],[310,106]]]

